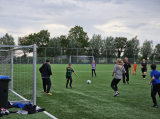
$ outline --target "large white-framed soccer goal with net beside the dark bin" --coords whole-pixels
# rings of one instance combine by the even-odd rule
[[[36,105],[36,45],[0,45],[0,75],[9,76],[8,100]]]

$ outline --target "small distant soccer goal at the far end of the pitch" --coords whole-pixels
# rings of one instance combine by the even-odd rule
[[[72,64],[91,64],[94,56],[70,56],[69,62]]]

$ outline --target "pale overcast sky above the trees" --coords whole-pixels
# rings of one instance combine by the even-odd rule
[[[160,43],[160,0],[0,0],[0,37],[18,37],[49,30],[67,35],[75,25],[89,38],[138,36]]]

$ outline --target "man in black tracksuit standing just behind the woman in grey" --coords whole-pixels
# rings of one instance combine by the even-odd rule
[[[126,73],[123,74],[123,84],[126,85],[126,81],[129,84],[129,69],[130,69],[130,74],[131,74],[131,64],[130,64],[130,62],[128,62],[128,58],[127,57],[124,58],[124,62],[123,63],[124,63],[123,66],[124,66],[124,68],[126,70]],[[125,81],[125,77],[127,78],[126,81]]]

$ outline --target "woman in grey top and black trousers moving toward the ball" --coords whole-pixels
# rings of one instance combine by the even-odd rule
[[[117,84],[122,79],[123,73],[126,73],[125,68],[123,66],[123,61],[121,59],[117,59],[116,64],[114,66],[114,71],[112,74],[112,76],[114,76],[114,74],[115,76],[111,82],[111,87],[115,91],[115,94],[113,95],[114,97],[119,95]]]

